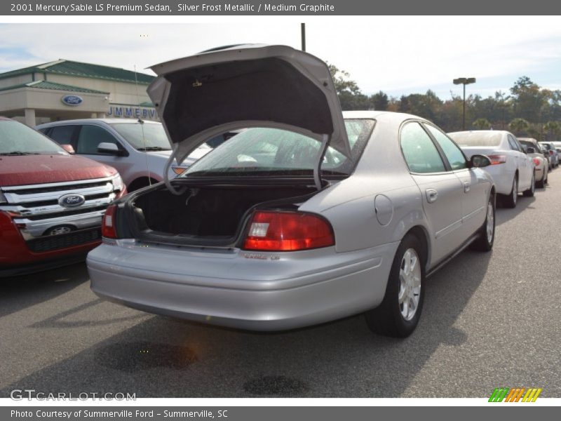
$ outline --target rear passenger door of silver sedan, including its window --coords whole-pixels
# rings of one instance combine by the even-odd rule
[[[418,121],[409,121],[402,126],[400,146],[411,177],[421,191],[433,243],[432,265],[464,241],[460,233],[464,187]]]

